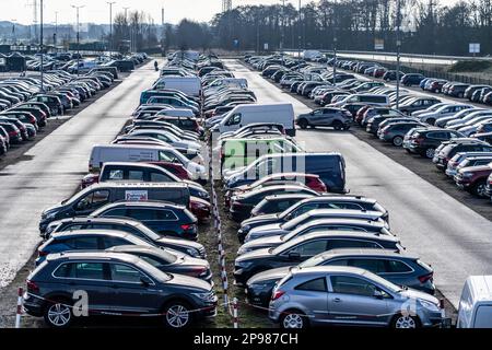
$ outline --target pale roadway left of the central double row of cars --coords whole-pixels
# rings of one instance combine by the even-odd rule
[[[157,78],[153,65],[136,70],[110,92],[44,138],[22,161],[0,171],[0,287],[12,281],[40,242],[43,210],[70,197],[87,173],[92,147],[107,143]]]

